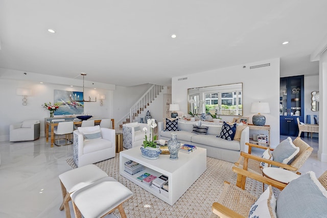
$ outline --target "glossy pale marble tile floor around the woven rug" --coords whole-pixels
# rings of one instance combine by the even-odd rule
[[[281,140],[286,137],[281,136]],[[314,152],[300,172],[327,170],[317,159],[317,138],[305,138]],[[65,160],[73,156],[73,145],[50,148],[45,138],[33,142],[0,142],[0,217],[65,217],[58,175],[71,168]],[[71,207],[72,217],[73,209]],[[106,217],[115,217],[107,215]]]

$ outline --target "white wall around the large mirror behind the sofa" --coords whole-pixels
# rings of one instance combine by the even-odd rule
[[[249,69],[250,66],[270,63],[269,67]],[[243,66],[246,66],[243,68]],[[180,110],[187,114],[189,88],[243,83],[243,117],[250,117],[252,102],[269,102],[270,114],[265,114],[266,125],[271,126],[271,146],[279,144],[279,58],[221,68],[196,74],[183,75],[186,80],[172,78],[172,102],[179,103]],[[233,116],[221,116],[232,121]]]

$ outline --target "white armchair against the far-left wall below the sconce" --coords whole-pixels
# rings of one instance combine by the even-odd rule
[[[9,126],[9,141],[24,142],[34,141],[40,138],[40,121],[25,120],[22,123]]]

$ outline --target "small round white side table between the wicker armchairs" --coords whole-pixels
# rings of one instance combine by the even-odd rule
[[[282,182],[284,184],[288,184],[293,179],[299,177],[299,175],[292,171],[276,167],[266,167],[262,170],[262,173],[265,177],[276,180],[278,182]]]

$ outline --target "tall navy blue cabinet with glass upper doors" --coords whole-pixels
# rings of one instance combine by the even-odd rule
[[[304,76],[282,77],[279,89],[281,135],[298,135],[296,118],[304,120]]]

